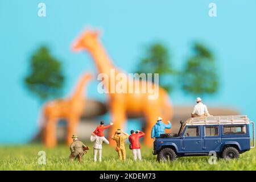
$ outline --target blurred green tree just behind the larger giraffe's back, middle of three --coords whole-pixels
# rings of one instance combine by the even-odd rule
[[[169,76],[173,75],[175,71],[172,69],[168,49],[162,43],[151,44],[146,49],[146,54],[140,60],[135,72],[139,74],[159,73],[159,85],[167,92],[173,90],[172,79]],[[154,82],[154,76],[152,78]]]

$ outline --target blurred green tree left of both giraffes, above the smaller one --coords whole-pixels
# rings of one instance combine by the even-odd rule
[[[39,47],[31,56],[30,72],[24,82],[40,102],[60,96],[64,83],[62,65],[50,54],[48,47]]]

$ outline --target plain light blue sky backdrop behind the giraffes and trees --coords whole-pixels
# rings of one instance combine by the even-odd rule
[[[46,17],[38,16],[38,3],[46,3]],[[217,17],[208,16],[208,5],[217,5]],[[210,106],[228,106],[255,113],[256,1],[0,1],[0,143],[25,143],[38,131],[40,104],[23,84],[31,54],[47,44],[64,62],[67,80],[64,95],[77,77],[94,70],[87,53],[73,53],[71,43],[86,25],[101,28],[102,42],[115,65],[133,72],[144,46],[160,40],[171,50],[179,69],[191,55],[194,40],[214,51],[221,76],[219,92],[204,97]],[[90,85],[88,96],[105,100]],[[192,105],[195,98],[179,88],[174,104]]]

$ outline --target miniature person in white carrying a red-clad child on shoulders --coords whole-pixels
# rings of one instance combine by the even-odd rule
[[[94,142],[93,145],[93,161],[97,162],[97,153],[98,153],[98,161],[101,162],[101,154],[102,154],[102,142],[109,144],[109,141],[105,137],[99,137],[96,134],[92,133],[90,136],[90,141]]]

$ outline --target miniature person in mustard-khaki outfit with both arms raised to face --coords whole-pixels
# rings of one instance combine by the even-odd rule
[[[112,139],[117,143],[117,147],[115,147],[115,151],[118,152],[118,158],[120,160],[126,159],[125,152],[125,140],[129,137],[129,134],[124,133],[121,129],[115,131],[115,134],[112,136]]]

